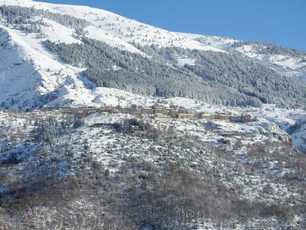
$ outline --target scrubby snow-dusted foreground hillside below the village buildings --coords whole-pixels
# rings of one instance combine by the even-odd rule
[[[199,197],[206,198],[216,193],[216,198],[210,202],[216,203],[220,210],[214,208],[210,212],[217,213],[217,215],[220,215],[219,213],[226,206],[226,204],[220,203],[223,202],[223,194],[229,194],[226,195],[227,203],[239,199],[237,205],[241,205],[242,201],[259,206],[268,205],[268,208],[264,206],[264,210],[268,211],[272,210],[269,208],[270,206],[276,209],[276,205],[279,205],[277,208],[279,211],[269,216],[258,215],[257,209],[252,208],[253,206],[245,208],[249,210],[248,212],[254,212],[248,215],[249,217],[237,218],[236,215],[232,215],[232,212],[226,218],[235,221],[235,226],[239,226],[239,228],[234,228],[267,229],[271,226],[271,221],[273,221],[273,229],[282,229],[289,225],[294,229],[302,229],[302,226],[305,225],[304,215],[299,212],[299,210],[303,210],[299,207],[300,205],[303,207],[306,199],[303,187],[305,183],[305,156],[285,145],[284,139],[288,134],[279,130],[274,123],[264,121],[217,122],[200,119],[155,122],[141,114],[132,115],[121,112],[93,113],[83,118],[80,126],[75,126],[77,121],[73,115],[65,115],[57,110],[40,110],[28,113],[0,111],[0,175],[2,176],[0,177],[0,194],[2,197],[6,197],[7,194],[15,195],[16,193],[13,191],[22,186],[22,189],[18,190],[20,191],[17,193],[18,196],[12,195],[12,198],[6,199],[6,202],[15,202],[16,199],[28,201],[23,198],[24,192],[22,191],[27,188],[25,182],[27,180],[24,181],[24,178],[32,182],[39,180],[41,175],[52,175],[55,179],[65,179],[62,186],[68,185],[61,187],[63,192],[54,192],[52,189],[57,188],[59,182],[54,181],[52,186],[47,187],[47,180],[41,180],[37,183],[40,189],[27,193],[30,197],[29,200],[32,201],[33,197],[36,197],[37,191],[39,194],[42,193],[41,187],[44,187],[47,197],[35,199],[35,207],[32,208],[33,211],[30,214],[28,207],[32,203],[28,206],[23,202],[17,202],[18,208],[22,209],[24,205],[23,215],[25,217],[23,218],[12,218],[11,216],[14,217],[15,212],[6,208],[6,203],[2,202],[1,205],[4,208],[0,212],[0,227],[10,226],[5,221],[15,224],[16,220],[24,222],[24,225],[33,226],[30,225],[33,222],[27,218],[28,215],[31,215],[29,218],[32,221],[35,219],[36,226],[44,226],[44,229],[60,229],[59,226],[54,227],[54,224],[58,224],[59,221],[50,223],[48,219],[53,220],[60,216],[57,215],[56,209],[59,206],[59,200],[62,196],[67,199],[73,197],[68,193],[71,188],[78,191],[75,193],[78,195],[77,199],[65,199],[64,206],[60,206],[61,211],[66,207],[69,208],[69,210],[65,210],[66,213],[70,212],[65,218],[66,223],[69,221],[74,223],[71,219],[78,212],[92,217],[92,215],[96,215],[92,210],[99,212],[102,210],[103,212],[101,211],[99,216],[115,216],[112,212],[117,209],[114,208],[114,205],[110,205],[113,204],[113,196],[118,197],[119,205],[124,205],[126,197],[132,190],[131,185],[136,184],[136,188],[151,188],[151,178],[163,179],[163,175],[168,175],[163,171],[163,167],[168,164],[171,167],[169,170],[171,177],[165,180],[165,187],[158,187],[158,191],[167,196],[172,193],[177,194],[177,191],[182,187],[182,181],[194,185],[195,179],[202,179],[206,181],[207,187],[184,190],[179,195],[186,194],[193,198],[191,191],[198,193],[203,188],[214,189],[214,192],[205,190],[205,193],[200,194]],[[139,125],[140,122],[143,122],[145,129],[131,130],[129,126],[124,126],[127,121],[138,121]],[[279,137],[284,137],[283,141]],[[174,166],[182,167],[186,172],[200,173],[187,178],[188,174],[184,173],[179,177],[179,180],[175,180],[173,177]],[[129,170],[125,170],[127,167]],[[129,177],[118,180],[124,170]],[[88,178],[81,177],[82,174],[88,175]],[[78,179],[77,183],[70,184],[76,179]],[[169,186],[173,180],[176,185],[173,187],[175,189]],[[104,181],[105,183],[103,183]],[[116,182],[115,188],[127,185],[122,189],[120,196],[114,195],[116,193],[113,193],[113,190],[108,193],[109,188],[113,186],[111,183],[114,181]],[[93,185],[93,190],[100,191],[100,193],[93,193],[93,190],[89,190],[83,185],[83,182],[90,183]],[[80,191],[83,190],[85,190],[85,195],[81,196]],[[47,202],[45,202],[46,204],[40,203],[41,200],[52,199],[53,194],[57,196],[55,198],[56,205]],[[137,194],[137,197],[143,199],[143,197],[147,197],[145,194],[152,194],[152,190],[141,193],[141,196]],[[158,198],[147,200],[158,200]],[[166,200],[171,202],[169,199]],[[136,203],[134,200],[132,201]],[[207,204],[207,202],[198,201],[198,199],[194,199],[194,202]],[[104,206],[101,206],[101,203]],[[182,201],[183,204],[184,201]],[[106,209],[105,205],[110,206],[107,206],[108,209]],[[147,202],[146,205],[148,205]],[[134,207],[129,203],[127,206]],[[292,211],[287,211],[288,206],[292,207]],[[91,209],[89,209],[90,207]],[[241,212],[239,208],[237,210]],[[10,216],[5,216],[6,211]],[[225,212],[228,212],[228,208],[225,209]],[[146,212],[139,212],[137,216],[141,216],[142,213]],[[291,218],[287,218],[286,222],[283,222],[279,216],[283,217],[286,213]],[[211,229],[220,229],[216,223],[217,215],[214,215],[213,218],[208,216],[203,221],[198,218],[200,229],[207,229],[208,224],[215,226]],[[47,218],[37,218],[38,216],[46,216]],[[80,219],[79,216],[77,218]],[[221,218],[224,219],[224,215]],[[97,226],[97,223],[94,222],[92,225],[95,226],[88,227],[88,223],[90,221],[86,222],[86,226],[80,227],[78,222],[78,227],[80,229],[95,229]],[[105,223],[99,224],[102,226]],[[24,229],[28,228],[24,227]],[[65,228],[75,229],[76,227]],[[99,228],[110,229],[108,227]],[[226,226],[224,228],[232,229],[233,227]],[[16,227],[9,227],[9,229],[16,229]],[[121,229],[140,228],[122,227]],[[148,227],[146,229],[163,228]],[[173,227],[172,229],[186,228]]]

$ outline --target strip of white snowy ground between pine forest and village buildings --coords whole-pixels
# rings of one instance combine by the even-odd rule
[[[74,96],[84,95],[83,93],[78,92],[79,90],[84,90],[82,88],[72,89],[70,88],[70,94]],[[78,93],[73,93],[77,91]],[[89,93],[89,92],[87,92]],[[91,97],[89,97],[91,95]],[[69,96],[67,101],[70,100]],[[54,107],[57,104],[61,104],[63,101],[62,97],[56,99],[46,106]],[[65,101],[65,100],[64,100]],[[142,107],[151,107],[158,102],[162,102],[165,106],[183,106],[185,108],[192,108],[198,112],[206,111],[208,113],[223,113],[223,114],[251,114],[252,117],[257,118],[260,122],[272,122],[275,123],[283,131],[289,133],[292,138],[293,145],[305,151],[306,150],[306,111],[302,109],[285,109],[277,108],[272,104],[265,104],[261,108],[254,107],[226,107],[219,105],[211,105],[208,103],[203,103],[198,100],[188,99],[188,98],[155,98],[155,97],[144,97],[137,94],[129,93],[124,90],[115,89],[115,88],[105,88],[98,87],[95,89],[94,93],[88,94],[86,97],[74,98],[73,101],[70,101],[72,105],[107,105],[107,106],[120,106],[126,107],[132,104],[142,106]],[[242,124],[238,124],[240,128]],[[232,127],[233,128],[233,127]]]

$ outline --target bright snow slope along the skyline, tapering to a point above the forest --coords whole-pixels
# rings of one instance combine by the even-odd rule
[[[32,0],[0,0],[0,5],[18,5],[21,7],[35,7],[37,9],[49,10],[68,14],[73,17],[85,19],[92,26],[85,28],[88,37],[105,41],[114,47],[121,47],[132,52],[140,52],[129,42],[142,45],[157,44],[163,47],[182,47],[198,50],[212,50],[224,52],[220,49],[202,44],[193,39],[182,36],[179,33],[169,32],[161,28],[142,24],[136,20],[122,17],[109,11],[91,8],[87,6],[73,6],[34,2]]]

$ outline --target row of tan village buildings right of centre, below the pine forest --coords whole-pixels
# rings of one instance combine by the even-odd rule
[[[168,107],[155,107],[155,108],[141,108],[141,113],[151,114],[155,120],[169,121],[172,118],[185,118],[185,119],[204,119],[204,120],[225,120],[225,121],[243,121],[250,122],[252,117],[249,114],[243,116],[238,115],[225,115],[225,114],[211,114],[207,112],[196,112],[194,109],[177,109]]]

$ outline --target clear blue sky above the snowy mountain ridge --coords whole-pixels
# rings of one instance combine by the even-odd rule
[[[264,41],[306,51],[306,0],[43,0],[86,5],[175,32]]]

